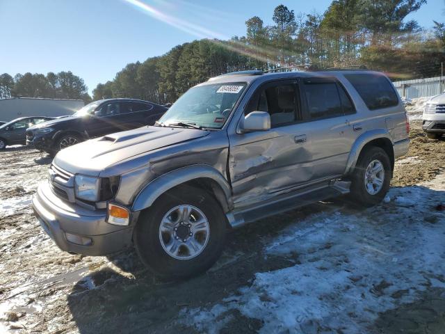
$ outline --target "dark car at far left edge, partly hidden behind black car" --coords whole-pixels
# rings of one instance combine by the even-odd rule
[[[47,120],[52,120],[52,118],[44,116],[22,117],[0,125],[0,150],[6,148],[6,145],[25,145],[26,129]]]

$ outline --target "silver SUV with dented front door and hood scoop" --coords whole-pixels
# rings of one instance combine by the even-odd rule
[[[350,193],[375,205],[409,126],[378,72],[235,72],[197,85],[156,122],[60,151],[33,198],[68,252],[135,246],[155,273],[185,278],[244,223]]]

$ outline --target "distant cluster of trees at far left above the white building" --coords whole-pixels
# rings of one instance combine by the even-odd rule
[[[74,99],[91,102],[83,79],[72,72],[44,74],[0,74],[0,99],[11,97],[46,97],[50,99]]]

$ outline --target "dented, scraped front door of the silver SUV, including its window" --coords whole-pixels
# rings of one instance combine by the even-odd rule
[[[297,80],[272,81],[252,95],[245,115],[252,111],[270,114],[270,129],[229,134],[229,171],[234,205],[271,198],[308,182],[312,168]]]

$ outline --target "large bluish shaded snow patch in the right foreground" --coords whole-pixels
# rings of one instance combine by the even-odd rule
[[[445,202],[443,185],[392,188],[387,205],[296,222],[264,251],[298,255],[298,264],[256,273],[240,296],[186,311],[188,324],[218,333],[238,310],[263,321],[260,333],[365,333],[379,312],[445,286],[445,212],[432,206]]]

